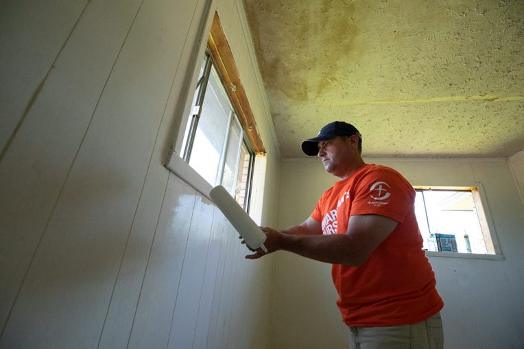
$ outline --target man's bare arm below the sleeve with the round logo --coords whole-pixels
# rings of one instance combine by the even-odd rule
[[[380,215],[355,215],[349,218],[346,234],[296,235],[283,234],[272,228],[262,228],[269,252],[285,250],[316,261],[362,265],[394,230],[397,221]],[[260,258],[264,252],[254,251],[248,259]]]

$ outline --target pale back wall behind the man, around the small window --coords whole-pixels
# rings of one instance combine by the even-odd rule
[[[505,159],[368,159],[366,162],[393,167],[412,182],[482,183],[505,259],[430,257],[437,289],[444,298],[445,347],[522,348],[524,206],[508,162]],[[516,176],[522,173],[517,169],[521,165],[514,164]],[[318,197],[336,179],[324,171],[318,159],[285,160],[281,170],[279,227],[307,218]],[[274,263],[272,348],[346,348],[348,333],[335,305],[331,266],[285,252],[277,252]]]

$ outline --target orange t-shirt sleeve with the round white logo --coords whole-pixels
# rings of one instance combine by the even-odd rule
[[[381,215],[402,223],[414,196],[413,187],[398,173],[370,171],[355,186],[350,215]]]

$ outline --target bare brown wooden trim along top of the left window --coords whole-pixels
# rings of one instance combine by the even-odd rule
[[[229,47],[228,40],[222,29],[222,24],[220,23],[217,12],[215,12],[215,16],[213,17],[211,34],[209,34],[207,45],[209,51],[211,51],[213,60],[215,60],[215,65],[220,75],[222,75],[224,86],[228,89],[230,99],[235,105],[240,123],[251,142],[255,154],[265,154],[266,152],[262,142],[262,137],[257,128],[257,123],[254,120],[254,115],[249,105],[246,90],[243,88],[240,80],[233,53]]]

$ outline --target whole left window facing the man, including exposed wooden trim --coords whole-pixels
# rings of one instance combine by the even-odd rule
[[[165,166],[206,197],[222,184],[249,211],[254,159],[265,149],[216,12],[207,45],[193,50],[187,80],[195,85],[183,91]]]

